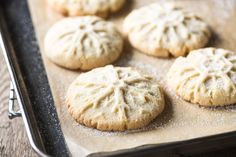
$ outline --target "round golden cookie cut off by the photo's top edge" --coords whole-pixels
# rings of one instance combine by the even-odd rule
[[[118,11],[125,0],[47,0],[55,11],[67,16],[97,15],[107,17]]]

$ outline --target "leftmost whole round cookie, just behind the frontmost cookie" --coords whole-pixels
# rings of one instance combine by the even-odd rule
[[[54,63],[89,70],[115,61],[123,39],[115,26],[96,16],[65,18],[47,32],[44,47]]]

